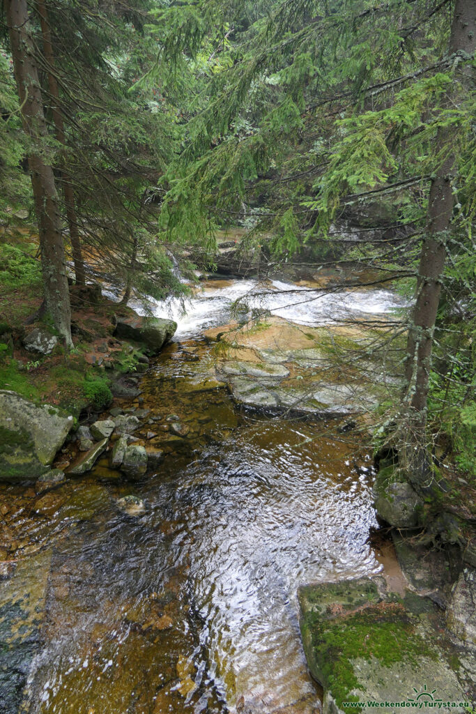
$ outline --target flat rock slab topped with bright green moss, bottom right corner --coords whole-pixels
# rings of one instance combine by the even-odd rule
[[[323,714],[417,711],[425,700],[440,711],[465,710],[459,650],[428,598],[385,593],[380,578],[305,585],[298,595],[308,666],[325,690]]]

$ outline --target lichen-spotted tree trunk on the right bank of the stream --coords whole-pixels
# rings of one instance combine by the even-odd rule
[[[476,49],[476,0],[455,0],[450,54],[472,56]],[[463,84],[471,81],[470,66],[462,73]],[[456,79],[455,85],[456,86]],[[438,131],[436,149],[451,145],[451,129]],[[405,391],[403,406],[406,410],[405,470],[415,488],[430,486],[431,468],[425,443],[427,422],[427,396],[433,333],[437,316],[445,266],[446,241],[450,232],[454,205],[452,171],[455,156],[448,152],[435,173],[430,186],[427,209],[427,228],[422,241],[418,268],[417,298],[408,332],[405,361]]]

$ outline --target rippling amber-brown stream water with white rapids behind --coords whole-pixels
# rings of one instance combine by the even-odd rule
[[[361,467],[370,456],[337,421],[238,411],[224,388],[201,388],[197,375],[213,362],[201,331],[229,321],[231,302],[254,287],[206,283],[185,318],[169,306],[176,339],[143,377],[135,406],[151,410],[147,428],[166,429],[173,414],[190,431],[169,438],[164,429],[156,474],[127,483],[103,459],[22,512],[41,590],[24,698],[31,714],[320,710],[296,592],[382,569],[368,543],[377,523],[371,469]],[[313,324],[397,305],[387,291],[360,291],[292,308],[298,288],[265,289],[268,308]],[[118,508],[128,494],[142,499],[142,513]],[[11,588],[22,583],[15,576]]]

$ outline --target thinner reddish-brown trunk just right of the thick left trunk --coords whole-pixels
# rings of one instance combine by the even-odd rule
[[[61,114],[61,108],[59,104],[58,82],[56,81],[56,76],[54,74],[55,61],[53,44],[51,43],[51,29],[48,19],[48,10],[46,9],[46,4],[44,0],[37,0],[36,7],[40,16],[44,56],[49,66],[48,86],[52,100],[51,113],[53,114],[54,126],[56,129],[56,139],[58,139],[60,144],[66,146],[63,114]],[[62,159],[63,164],[65,164],[66,158],[64,155]],[[63,179],[64,204],[66,206],[66,218],[69,227],[71,250],[73,251],[74,273],[76,275],[76,283],[79,285],[84,285],[86,283],[86,276],[84,273],[84,261],[83,254],[81,252],[81,239],[79,238],[78,221],[76,218],[74,191],[73,186],[71,186],[71,180],[69,178],[69,174],[68,171],[66,171],[65,166],[63,166],[61,170],[61,178]]]

